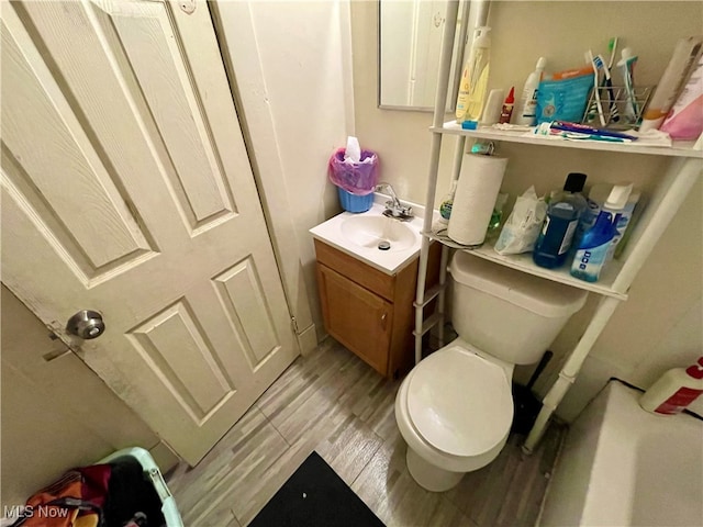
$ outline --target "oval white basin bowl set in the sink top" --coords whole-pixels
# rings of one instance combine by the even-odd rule
[[[347,217],[341,228],[346,239],[368,249],[405,250],[417,238],[408,225],[383,215]]]

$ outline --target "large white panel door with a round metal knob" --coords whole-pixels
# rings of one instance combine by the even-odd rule
[[[208,5],[1,14],[2,280],[194,464],[298,355]]]

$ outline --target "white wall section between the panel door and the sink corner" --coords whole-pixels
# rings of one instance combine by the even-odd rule
[[[272,238],[286,248],[278,256],[289,302],[322,336],[308,229],[339,211],[327,160],[354,133],[349,5],[220,1],[215,12]]]

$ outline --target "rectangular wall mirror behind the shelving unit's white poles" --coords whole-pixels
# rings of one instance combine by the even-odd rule
[[[447,111],[454,111],[467,42],[469,1],[461,0],[454,40]],[[379,0],[378,105],[433,111],[447,0]]]

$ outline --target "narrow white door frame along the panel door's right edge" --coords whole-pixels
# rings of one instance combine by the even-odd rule
[[[288,311],[293,321],[293,329],[301,355],[312,352],[317,346],[315,324],[312,317],[310,293],[305,287],[302,271],[302,254],[299,249],[298,234],[292,221],[292,208],[288,200],[289,188],[283,177],[283,167],[278,148],[276,126],[267,103],[267,89],[260,65],[260,54],[256,40],[253,18],[248,2],[237,2],[242,15],[237,16],[238,46],[246,54],[236,57],[235,71],[232,46],[227,44],[222,19],[219,12],[220,0],[208,2],[220,54],[230,81],[230,92],[239,119],[254,181],[264,209],[264,218],[269,229],[274,256],[279,269]],[[246,82],[237,82],[237,78]],[[243,93],[245,92],[245,93]],[[246,99],[246,105],[244,100]],[[258,145],[255,146],[255,145]]]

